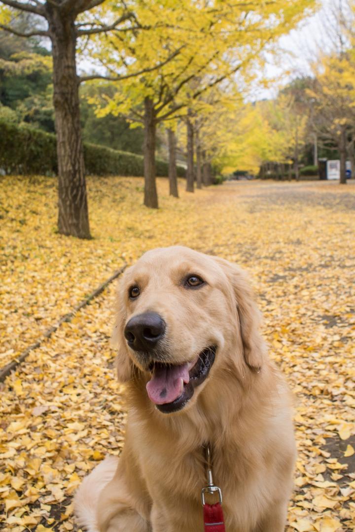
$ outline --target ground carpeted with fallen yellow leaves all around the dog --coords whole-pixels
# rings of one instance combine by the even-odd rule
[[[0,367],[123,261],[184,244],[241,264],[295,393],[299,458],[288,532],[355,527],[355,186],[228,182],[142,207],[141,179],[91,178],[93,240],[55,233],[50,178],[0,181]],[[0,522],[77,530],[71,496],[123,444],[124,389],[109,347],[114,285],[1,386]]]

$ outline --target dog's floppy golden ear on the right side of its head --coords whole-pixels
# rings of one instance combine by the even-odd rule
[[[243,270],[232,262],[217,258],[233,288],[237,321],[243,343],[244,361],[253,371],[260,371],[266,356],[266,345],[260,334],[261,314],[254,293]]]

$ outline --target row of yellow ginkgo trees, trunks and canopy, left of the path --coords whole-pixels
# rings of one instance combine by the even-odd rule
[[[213,108],[222,101],[220,93],[240,94],[241,80],[248,80],[262,63],[262,53],[270,51],[314,5],[313,0],[2,0],[0,28],[23,38],[51,41],[59,231],[90,236],[80,128],[82,82],[101,84],[93,102],[98,114],[120,114],[144,124],[144,203],[158,207],[158,124],[168,123],[174,133],[177,120],[186,121],[187,189],[193,190],[194,135],[208,163],[208,150],[201,144],[205,120],[201,109],[210,94],[218,88]],[[16,28],[16,17],[23,12],[35,15],[34,29]],[[78,56],[95,65],[93,73],[78,75]],[[108,90],[112,83],[115,92]],[[172,134],[170,139],[173,147]]]

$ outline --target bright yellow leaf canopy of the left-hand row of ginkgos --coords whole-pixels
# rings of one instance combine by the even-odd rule
[[[89,103],[95,105],[98,117],[121,113],[133,124],[144,122],[142,109],[146,98],[154,104],[157,122],[168,115],[169,120],[185,116],[187,107],[193,107],[198,118],[202,115],[204,120],[209,115],[209,124],[201,129],[200,135],[208,160],[225,168],[237,161],[238,168],[256,172],[260,165],[257,145],[264,131],[257,131],[257,138],[251,139],[252,134],[243,138],[247,152],[238,147],[236,138],[231,137],[234,124],[228,129],[231,118],[228,110],[230,115],[234,114],[234,93],[241,97],[260,73],[265,64],[261,52],[271,53],[278,38],[316,5],[314,0],[247,4],[221,0],[171,0],[163,4],[155,0],[138,1],[135,15],[138,22],[144,21],[143,31],[134,34],[118,31],[106,37],[93,36],[89,43],[85,41],[86,49],[111,76],[122,77],[119,84],[110,86],[106,92],[108,83],[98,82],[100,90],[89,98]],[[111,10],[109,2],[100,7],[96,16],[109,16]],[[153,66],[159,68],[152,70]],[[131,77],[137,72],[139,76]],[[208,98],[216,87],[222,87],[224,98],[215,98],[208,105],[203,98]],[[241,140],[241,132],[236,136]]]

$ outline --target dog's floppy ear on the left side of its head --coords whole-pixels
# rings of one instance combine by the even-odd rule
[[[115,322],[111,335],[111,345],[117,351],[116,368],[120,383],[126,383],[132,377],[132,361],[128,356],[126,338],[123,336],[126,312],[123,304],[123,282],[119,281],[115,302]]]

